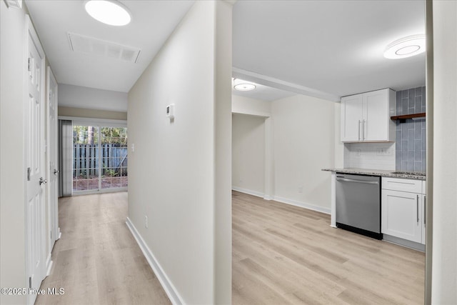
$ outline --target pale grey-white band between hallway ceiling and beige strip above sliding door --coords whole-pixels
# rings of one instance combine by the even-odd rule
[[[127,94],[59,84],[59,106],[126,112]]]

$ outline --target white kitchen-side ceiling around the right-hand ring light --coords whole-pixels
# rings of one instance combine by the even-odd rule
[[[240,0],[233,8],[236,76],[328,99],[423,86],[425,54],[392,60],[383,51],[404,36],[425,34],[424,4]]]

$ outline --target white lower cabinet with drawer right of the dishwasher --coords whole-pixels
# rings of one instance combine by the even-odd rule
[[[383,177],[381,189],[381,232],[425,244],[424,200],[420,180]],[[403,187],[403,189],[402,189]]]

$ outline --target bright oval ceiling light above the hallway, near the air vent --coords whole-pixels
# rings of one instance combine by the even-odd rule
[[[131,21],[129,9],[115,0],[89,0],[84,4],[87,14],[110,26],[125,26]]]

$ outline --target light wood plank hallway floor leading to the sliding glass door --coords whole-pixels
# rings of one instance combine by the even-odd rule
[[[61,239],[35,304],[170,304],[127,228],[127,192],[59,199]]]

